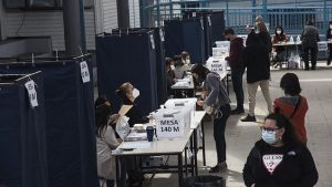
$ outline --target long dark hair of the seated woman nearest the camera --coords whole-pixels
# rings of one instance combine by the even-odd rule
[[[112,108],[106,104],[108,100],[105,96],[100,96],[95,101],[95,125],[96,136],[101,137],[103,132],[107,128],[108,120],[112,114]]]

